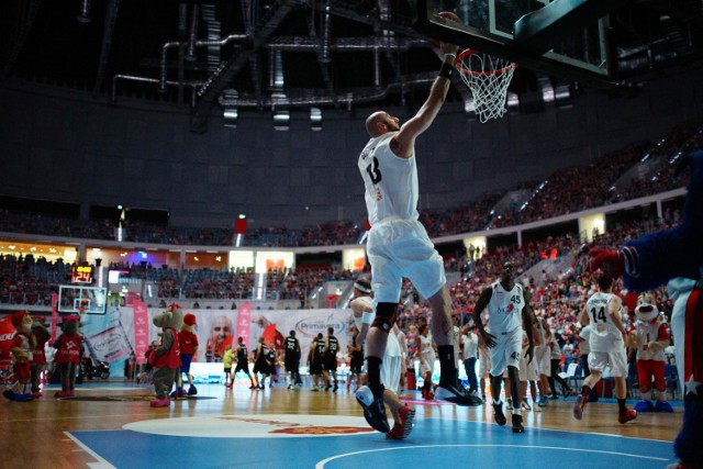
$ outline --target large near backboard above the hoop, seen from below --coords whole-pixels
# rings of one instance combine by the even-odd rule
[[[607,12],[623,0],[416,0],[420,33],[535,71],[615,89]],[[445,20],[453,11],[461,23]]]

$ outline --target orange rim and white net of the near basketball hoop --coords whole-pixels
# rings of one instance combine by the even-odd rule
[[[507,86],[517,64],[468,48],[457,56],[455,66],[471,90],[481,123],[502,118]]]

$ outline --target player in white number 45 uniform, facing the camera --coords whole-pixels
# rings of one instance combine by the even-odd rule
[[[478,326],[483,342],[489,347],[491,355],[491,395],[493,397],[493,412],[495,423],[505,425],[503,403],[500,400],[503,372],[507,368],[510,377],[511,395],[515,403],[512,423],[513,433],[523,433],[523,416],[520,405],[522,393],[520,391],[520,356],[522,354],[523,325],[527,333],[529,345],[526,356],[527,362],[532,362],[534,354],[534,340],[532,336],[532,317],[529,297],[523,294],[523,287],[515,283],[515,266],[505,263],[501,271],[501,279],[487,287],[476,302],[473,309],[473,323]],[[488,328],[483,327],[481,313],[488,308]]]

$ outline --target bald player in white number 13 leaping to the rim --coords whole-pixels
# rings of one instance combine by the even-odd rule
[[[459,21],[454,13],[440,15]],[[436,398],[459,405],[480,404],[458,382],[451,342],[451,300],[444,261],[417,220],[415,138],[429,127],[445,101],[458,51],[456,45],[447,43],[440,43],[440,48],[445,54],[444,64],[427,100],[402,126],[398,118],[388,112],[369,115],[366,130],[371,138],[358,159],[371,224],[367,255],[377,304],[366,342],[368,387],[357,391],[357,401],[364,407],[367,422],[379,432],[389,429],[382,401],[381,357],[395,322],[403,277],[413,282],[432,306],[432,336],[438,346],[442,370]]]

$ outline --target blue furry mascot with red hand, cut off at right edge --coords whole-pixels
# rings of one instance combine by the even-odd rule
[[[674,300],[671,331],[679,379],[684,390],[683,426],[674,442],[677,469],[703,468],[703,150],[679,168],[692,167],[683,222],[625,243],[622,249],[591,249],[593,270],[623,276],[628,290],[668,283]]]

